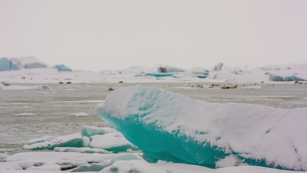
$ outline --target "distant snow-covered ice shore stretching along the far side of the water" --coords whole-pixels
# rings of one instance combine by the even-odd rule
[[[175,68],[176,69],[176,68]],[[220,70],[194,68],[159,73],[159,69],[131,67],[122,70],[99,72],[73,70],[59,71],[55,68],[33,68],[0,71],[1,82],[8,83],[101,83],[101,82],[280,82],[307,80],[307,64],[266,66],[259,68],[223,67]],[[170,70],[169,70],[170,71]]]

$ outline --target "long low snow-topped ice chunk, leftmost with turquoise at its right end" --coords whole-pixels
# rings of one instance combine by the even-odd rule
[[[61,137],[45,136],[30,140],[23,148],[28,150],[53,150],[56,147],[84,147],[86,143],[82,135],[76,133]]]

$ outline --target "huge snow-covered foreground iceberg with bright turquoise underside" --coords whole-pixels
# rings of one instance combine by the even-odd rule
[[[137,85],[96,110],[148,161],[307,170],[307,108],[208,103]]]

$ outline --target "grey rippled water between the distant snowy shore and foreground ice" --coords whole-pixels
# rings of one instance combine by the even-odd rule
[[[186,84],[142,83],[208,102],[237,102],[277,108],[307,107],[305,84],[275,84],[275,86],[262,84],[261,90],[194,89],[186,87]],[[97,116],[94,107],[104,102],[110,93],[108,91],[110,87],[116,89],[133,83],[46,85],[52,90],[0,90],[0,153],[7,149],[20,152],[27,140],[41,136],[63,136],[80,132],[84,125],[108,126]],[[238,87],[242,86],[240,84]],[[85,112],[89,116],[67,116],[77,112]],[[34,113],[36,116],[16,116],[19,113]]]

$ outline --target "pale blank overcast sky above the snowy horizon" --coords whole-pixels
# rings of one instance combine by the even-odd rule
[[[307,63],[307,1],[0,0],[0,57],[72,68]]]

